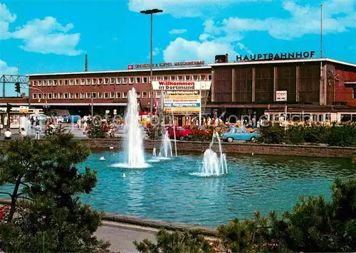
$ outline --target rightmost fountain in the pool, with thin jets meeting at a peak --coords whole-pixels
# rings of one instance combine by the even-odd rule
[[[214,145],[214,139],[218,140],[219,144],[219,154],[212,149]],[[214,132],[213,139],[211,140],[209,149],[206,149],[203,156],[203,165],[201,167],[200,173],[192,173],[192,175],[197,176],[222,176],[227,175],[227,163],[226,155],[222,153],[221,140],[217,132]]]

